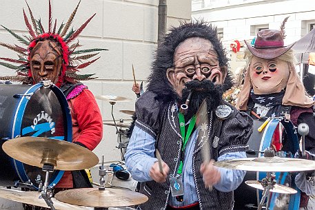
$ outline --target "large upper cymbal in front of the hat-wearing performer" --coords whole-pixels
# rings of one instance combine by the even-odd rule
[[[214,162],[216,167],[245,171],[311,171],[315,170],[314,160],[298,158],[241,158]]]

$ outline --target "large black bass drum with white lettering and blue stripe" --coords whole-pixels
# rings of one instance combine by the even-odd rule
[[[10,158],[3,143],[19,136],[38,136],[72,141],[72,121],[67,100],[53,85],[0,85],[0,185],[38,190],[45,181],[39,167]],[[49,186],[59,182],[64,171],[54,170]]]

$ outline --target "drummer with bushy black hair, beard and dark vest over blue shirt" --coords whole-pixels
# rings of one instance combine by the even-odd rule
[[[141,209],[233,208],[233,190],[245,171],[214,167],[213,162],[245,157],[252,119],[222,100],[223,90],[231,85],[227,56],[212,25],[182,23],[166,35],[147,90],[136,101],[125,154],[132,177],[149,197]],[[196,128],[196,112],[204,100],[209,123]],[[187,112],[180,112],[185,103]],[[199,132],[208,140],[197,138]],[[210,148],[207,164],[202,147]]]

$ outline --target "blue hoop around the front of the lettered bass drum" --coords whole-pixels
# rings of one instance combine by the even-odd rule
[[[26,94],[34,93],[36,90],[39,88],[43,87],[43,83],[37,83],[35,85],[32,85],[26,92]],[[72,119],[71,119],[71,114],[70,114],[70,108],[67,102],[67,99],[65,98],[63,92],[56,86],[56,85],[51,85],[50,89],[54,94],[57,96],[59,103],[61,103],[61,109],[63,114],[65,115],[65,123],[67,125],[67,132],[65,132],[65,138],[64,140],[67,140],[68,142],[72,142]],[[17,106],[17,112],[14,114],[14,120],[13,120],[13,126],[12,126],[12,138],[15,138],[15,136],[18,136],[19,133],[17,131],[21,130],[21,120],[24,112],[25,112],[25,107],[28,104],[28,98],[27,96],[22,96],[21,100],[19,101],[19,105]],[[24,107],[24,109],[20,109],[20,107]],[[15,160],[12,158],[14,162],[14,167],[15,170],[17,171],[17,175],[19,176],[20,180],[25,183],[30,183],[30,178],[28,178],[26,174],[26,170],[24,169],[23,162],[20,162],[19,160]],[[54,175],[52,176],[51,180],[52,182],[50,183],[50,187],[54,187],[56,185],[54,182],[59,182],[61,180],[61,177],[63,176],[65,171],[57,170],[54,172]],[[38,190],[37,187],[33,185],[35,190]]]

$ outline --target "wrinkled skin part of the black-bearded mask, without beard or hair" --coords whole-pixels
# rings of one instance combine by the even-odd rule
[[[180,43],[174,52],[174,67],[167,70],[167,78],[176,93],[181,96],[185,83],[209,79],[222,84],[226,68],[220,67],[218,54],[212,43],[200,37],[192,37]]]

